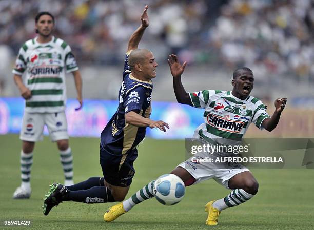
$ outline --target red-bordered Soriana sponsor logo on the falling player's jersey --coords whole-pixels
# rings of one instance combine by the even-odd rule
[[[240,133],[245,124],[240,120],[227,120],[214,114],[208,114],[207,122],[210,126],[229,133]]]

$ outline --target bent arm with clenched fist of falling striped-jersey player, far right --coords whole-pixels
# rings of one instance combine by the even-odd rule
[[[266,118],[263,120],[262,126],[265,130],[271,132],[276,128],[281,112],[284,110],[287,103],[287,98],[277,98],[274,102],[275,111],[270,118]]]

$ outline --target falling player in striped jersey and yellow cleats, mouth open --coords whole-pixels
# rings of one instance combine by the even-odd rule
[[[181,83],[181,75],[184,72],[186,62],[181,66],[178,58],[173,54],[169,56],[168,62],[173,76],[174,93],[178,102],[205,109],[205,123],[195,130],[194,138],[200,138],[201,142],[206,141],[206,143],[213,145],[217,143],[235,145],[241,142],[251,122],[256,124],[259,129],[264,128],[267,131],[276,128],[287,99],[276,99],[274,102],[276,110],[270,117],[264,104],[259,99],[249,96],[254,83],[253,72],[249,68],[244,67],[233,72],[232,92],[204,90],[187,93]],[[239,121],[241,121],[242,126],[239,126]],[[234,122],[238,122],[237,126],[233,126]],[[206,156],[210,155],[198,153],[193,157],[205,158]],[[216,152],[214,156],[221,156],[221,153]],[[208,212],[206,225],[217,225],[218,216],[222,210],[248,201],[257,194],[259,187],[251,172],[240,164],[234,164],[230,169],[228,164],[223,165],[223,167],[213,163],[195,164],[190,158],[179,164],[171,173],[179,176],[186,186],[213,178],[227,189],[232,190],[226,197],[206,204],[205,211]],[[153,183],[154,181],[149,182],[123,203],[109,208],[104,215],[104,220],[113,221],[130,211],[136,204],[152,198],[154,196]]]

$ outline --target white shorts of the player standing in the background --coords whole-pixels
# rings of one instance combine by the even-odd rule
[[[58,113],[28,113],[24,111],[19,139],[32,142],[43,140],[45,124],[51,141],[69,139],[67,118],[64,111]]]

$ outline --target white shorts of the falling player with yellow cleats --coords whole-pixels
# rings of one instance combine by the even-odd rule
[[[249,171],[249,169],[245,166],[237,163],[228,165],[228,163],[195,162],[195,159],[206,159],[207,157],[215,158],[216,156],[215,154],[211,155],[206,152],[198,152],[194,156],[179,164],[178,167],[186,169],[196,179],[194,184],[214,179],[217,183],[225,186],[227,189],[230,189],[228,187],[230,178],[239,173]]]

